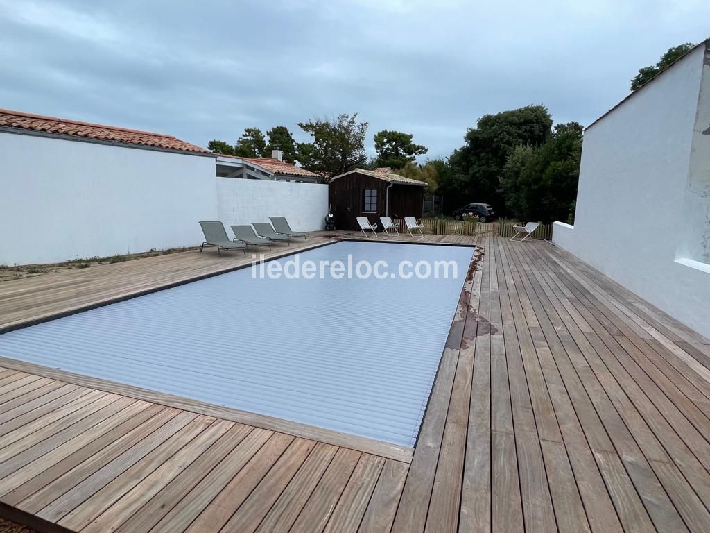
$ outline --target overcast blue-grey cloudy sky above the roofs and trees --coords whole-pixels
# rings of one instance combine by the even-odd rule
[[[359,112],[370,145],[447,156],[486,113],[589,124],[708,21],[707,0],[0,0],[0,108],[200,146]]]

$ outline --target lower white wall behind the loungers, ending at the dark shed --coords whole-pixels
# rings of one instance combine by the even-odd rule
[[[217,178],[218,215],[227,232],[230,224],[269,222],[288,218],[294,231],[316,231],[325,226],[328,185],[286,181]]]

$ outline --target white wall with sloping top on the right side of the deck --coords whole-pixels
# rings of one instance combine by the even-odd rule
[[[574,227],[552,240],[710,337],[710,265],[677,256],[703,48],[586,130]]]

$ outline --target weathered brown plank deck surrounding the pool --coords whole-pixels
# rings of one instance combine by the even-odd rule
[[[547,242],[414,240],[482,253],[413,457],[1,359],[0,515],[64,532],[708,530],[709,340]],[[250,259],[12,281],[0,328]]]

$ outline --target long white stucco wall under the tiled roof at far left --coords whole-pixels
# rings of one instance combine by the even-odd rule
[[[0,132],[0,264],[199,244],[214,158]]]

